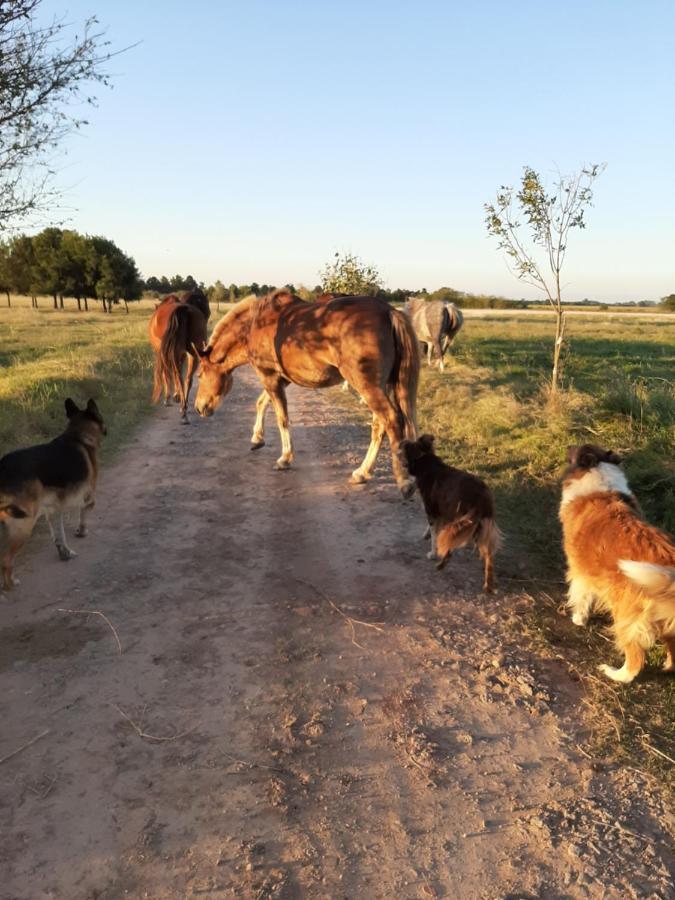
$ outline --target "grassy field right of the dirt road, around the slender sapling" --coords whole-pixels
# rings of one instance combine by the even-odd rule
[[[618,657],[606,621],[577,628],[564,611],[558,521],[566,449],[591,442],[625,456],[646,517],[675,533],[675,322],[598,315],[570,319],[568,330],[565,387],[552,397],[552,323],[527,314],[467,319],[446,371],[423,364],[419,426],[435,435],[446,461],[494,490],[506,537],[498,583],[530,598],[518,639],[532,652],[561,658],[583,681],[587,751],[638,765],[675,787],[675,766],[659,756],[675,759],[675,678],[658,671],[663,650],[652,650],[649,669],[632,685],[600,676],[597,665]],[[365,422],[364,407],[353,397],[348,402]]]

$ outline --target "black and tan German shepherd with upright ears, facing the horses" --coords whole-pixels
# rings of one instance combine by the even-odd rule
[[[44,516],[59,559],[76,554],[66,543],[63,513],[80,510],[75,534],[87,533],[86,514],[94,506],[98,475],[98,448],[106,434],[101,414],[93,400],[85,409],[68,398],[68,427],[49,444],[15,450],[0,459],[0,522],[4,522],[6,546],[2,556],[3,587],[8,591],[18,581],[12,575],[14,557]],[[57,517],[56,529],[51,516]]]

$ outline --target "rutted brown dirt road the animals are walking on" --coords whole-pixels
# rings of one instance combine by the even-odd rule
[[[436,573],[385,454],[347,484],[367,430],[325,394],[290,392],[296,468],[273,471],[256,393],[160,411],[77,559],[42,532],[20,559],[0,897],[673,897],[658,786],[577,749],[576,685],[518,641],[527,601],[479,596],[471,557]],[[61,609],[104,613],[121,655]]]

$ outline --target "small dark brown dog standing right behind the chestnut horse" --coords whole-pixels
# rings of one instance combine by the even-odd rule
[[[417,441],[402,441],[401,452],[417,482],[429,521],[424,537],[431,536],[428,559],[442,569],[454,550],[474,544],[485,565],[483,590],[494,590],[493,557],[502,543],[495,522],[492,492],[480,478],[446,465],[434,453],[434,439],[423,434]]]

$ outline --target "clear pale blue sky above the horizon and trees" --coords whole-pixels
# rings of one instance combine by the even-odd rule
[[[526,164],[606,162],[570,299],[675,291],[675,3],[45,0],[117,47],[59,180],[143,274],[535,296],[483,203]]]

